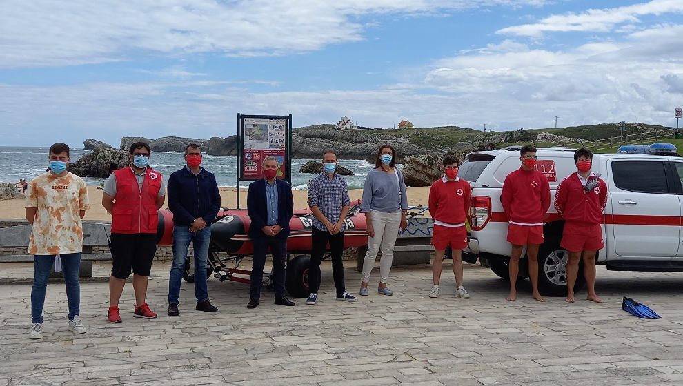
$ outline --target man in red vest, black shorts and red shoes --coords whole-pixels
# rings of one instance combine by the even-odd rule
[[[115,170],[104,184],[102,205],[112,215],[112,274],[109,278],[109,323],[120,323],[119,299],[133,272],[136,318],[157,317],[148,307],[147,281],[157,252],[157,210],[164,205],[166,187],[161,174],[148,167],[150,146],[130,145],[130,165]]]

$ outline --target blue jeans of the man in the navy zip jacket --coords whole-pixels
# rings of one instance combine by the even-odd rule
[[[198,302],[208,299],[206,261],[210,240],[211,227],[205,227],[197,232],[190,232],[189,227],[173,227],[173,265],[168,278],[168,303],[178,303],[180,283],[183,280],[183,269],[190,241],[195,249],[195,298]]]

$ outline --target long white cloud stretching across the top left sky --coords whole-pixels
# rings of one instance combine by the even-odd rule
[[[252,57],[359,41],[366,14],[420,14],[542,0],[5,0],[0,68],[103,63],[138,52]]]

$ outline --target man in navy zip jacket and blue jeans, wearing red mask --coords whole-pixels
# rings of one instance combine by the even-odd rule
[[[168,315],[178,316],[180,283],[190,242],[195,250],[195,298],[197,311],[218,312],[208,300],[206,261],[211,222],[221,209],[216,177],[201,167],[201,149],[190,143],[185,165],[168,179],[168,209],[173,212],[173,265],[168,278]]]

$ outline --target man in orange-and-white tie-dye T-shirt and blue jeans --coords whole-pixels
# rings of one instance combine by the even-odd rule
[[[69,329],[74,334],[86,332],[79,316],[78,273],[83,250],[81,219],[88,209],[88,190],[81,177],[66,170],[70,161],[68,145],[52,145],[49,161],[50,170],[33,179],[26,190],[26,220],[32,225],[28,253],[33,255],[34,267],[29,330],[32,339],[43,337],[45,292],[57,255],[64,270]]]

